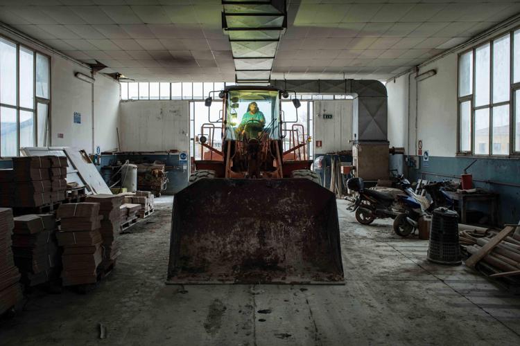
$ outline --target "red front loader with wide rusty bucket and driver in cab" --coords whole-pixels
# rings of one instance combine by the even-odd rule
[[[310,170],[303,127],[286,129],[288,92],[230,86],[219,98],[222,127],[202,125],[200,160],[173,201],[168,282],[343,282],[336,197]]]

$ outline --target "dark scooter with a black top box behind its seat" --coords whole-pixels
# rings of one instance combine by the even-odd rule
[[[410,185],[408,180],[401,176],[401,183]],[[347,188],[357,192],[356,197],[347,210],[356,212],[356,220],[363,225],[369,225],[375,219],[391,217],[394,219],[404,210],[399,208],[396,195],[390,192],[365,189],[365,184],[361,178],[351,178],[347,181]]]

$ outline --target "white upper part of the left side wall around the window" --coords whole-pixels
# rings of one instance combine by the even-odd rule
[[[63,57],[35,41],[0,28],[0,34],[51,57],[51,145],[71,146],[92,153],[117,147],[116,125],[119,117],[119,83],[105,75],[94,75],[94,136],[92,126],[92,84],[79,80],[76,72],[91,75],[91,70],[73,59]],[[73,113],[81,123],[73,123]],[[58,138],[62,134],[63,138]]]

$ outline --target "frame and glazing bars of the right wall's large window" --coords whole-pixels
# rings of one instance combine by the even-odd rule
[[[456,93],[457,93],[457,152],[456,156],[476,156],[476,157],[489,157],[489,158],[520,158],[520,151],[515,151],[515,133],[514,133],[514,127],[515,127],[515,118],[517,116],[514,113],[514,91],[517,89],[520,89],[520,82],[514,83],[514,33],[520,30],[519,27],[512,28],[508,31],[505,31],[503,33],[500,33],[498,35],[494,35],[494,37],[491,37],[484,42],[480,42],[479,44],[476,44],[475,46],[471,46],[471,48],[467,48],[464,51],[461,51],[457,55],[457,85],[456,85]],[[510,86],[509,86],[509,100],[502,101],[502,102],[494,102],[493,101],[493,64],[494,64],[494,42],[497,39],[501,39],[505,36],[509,36],[509,53],[510,53],[510,64],[509,64],[509,73],[510,73]],[[476,107],[475,106],[475,91],[476,91],[476,50],[482,46],[485,46],[489,44],[489,102],[487,104],[481,105]],[[472,80],[471,80],[471,94],[460,96],[459,90],[460,90],[460,60],[462,55],[465,55],[466,53],[472,52]],[[520,59],[520,57],[519,57]],[[461,121],[461,113],[460,113],[460,104],[462,102],[466,102],[470,100],[471,101],[471,151],[462,151],[460,149],[461,147],[461,127],[460,127],[460,121]],[[509,106],[509,147],[508,147],[508,154],[494,154],[493,153],[493,109],[494,107],[499,107],[503,105]],[[475,111],[478,109],[485,109],[489,108],[489,153],[488,154],[476,154],[476,143],[475,143]]]

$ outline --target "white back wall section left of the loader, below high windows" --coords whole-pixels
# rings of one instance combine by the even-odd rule
[[[151,152],[189,150],[189,102],[128,101],[120,103],[121,150]]]

